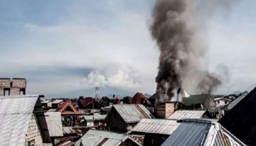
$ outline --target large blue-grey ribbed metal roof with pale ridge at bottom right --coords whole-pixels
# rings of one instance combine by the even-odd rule
[[[245,146],[219,123],[186,119],[161,146]]]

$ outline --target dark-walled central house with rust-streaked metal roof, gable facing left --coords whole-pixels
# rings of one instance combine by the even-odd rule
[[[127,132],[143,118],[154,117],[142,104],[114,104],[106,116],[106,126],[110,131]]]

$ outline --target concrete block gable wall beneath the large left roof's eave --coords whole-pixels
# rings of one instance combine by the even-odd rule
[[[29,121],[29,127],[27,129],[26,133],[26,140],[24,143],[24,146],[28,146],[29,141],[35,142],[34,146],[42,146],[43,145],[43,138],[42,138],[42,132],[41,128],[39,127],[38,120],[35,116],[35,114],[32,114],[30,121]]]

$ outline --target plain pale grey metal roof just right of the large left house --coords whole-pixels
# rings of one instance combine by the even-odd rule
[[[63,127],[60,112],[46,112],[45,115],[50,137],[62,137]]]

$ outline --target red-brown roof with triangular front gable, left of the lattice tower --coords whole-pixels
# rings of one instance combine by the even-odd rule
[[[69,108],[69,110],[67,110],[67,108]],[[62,115],[79,114],[79,111],[76,110],[70,100],[66,100],[64,103],[59,105],[56,111],[60,112]]]

